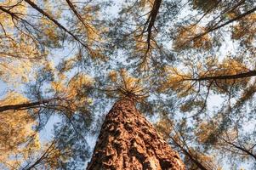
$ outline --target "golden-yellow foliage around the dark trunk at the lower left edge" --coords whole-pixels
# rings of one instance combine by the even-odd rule
[[[15,105],[27,99],[16,93],[9,93],[0,102]],[[27,111],[4,111],[0,114],[0,162],[7,167],[19,167],[32,152],[40,149],[38,133],[32,130],[37,122]],[[33,136],[33,140],[28,142]]]

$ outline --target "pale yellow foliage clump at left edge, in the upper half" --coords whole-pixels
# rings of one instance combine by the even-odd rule
[[[2,23],[1,20],[0,22]],[[20,82],[28,82],[33,76],[32,66],[36,61],[43,61],[46,52],[40,51],[30,36],[23,32],[17,34],[13,29],[9,29],[9,26],[10,24],[3,26],[5,32],[0,31],[0,78],[4,82],[18,85]],[[37,66],[40,63],[37,62]]]

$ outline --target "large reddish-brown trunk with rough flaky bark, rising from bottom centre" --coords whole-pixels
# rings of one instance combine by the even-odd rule
[[[185,166],[134,102],[121,99],[105,117],[87,169],[184,170]]]

